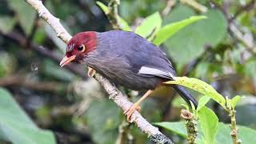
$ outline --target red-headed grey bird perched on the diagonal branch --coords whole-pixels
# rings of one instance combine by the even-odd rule
[[[160,47],[134,32],[110,30],[85,31],[75,34],[66,46],[66,55],[60,66],[78,62],[89,67],[88,75],[95,71],[117,86],[146,93],[124,114],[130,121],[135,110],[159,86],[173,81],[177,75],[174,67]],[[198,102],[183,86],[169,85],[190,105]]]

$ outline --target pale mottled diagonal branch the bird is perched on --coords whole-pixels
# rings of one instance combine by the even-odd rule
[[[35,10],[38,10],[40,17],[46,20],[50,26],[55,30],[58,37],[64,42],[68,42],[71,38],[70,34],[64,29],[59,22],[58,18],[55,18],[50,12],[43,6],[39,0],[26,0]],[[122,93],[113,86],[106,78],[103,78],[100,74],[94,74],[94,78],[102,84],[106,92],[109,94],[109,98],[112,99],[122,110],[128,110],[132,106],[130,102]],[[156,143],[173,143],[169,138],[162,134],[157,127],[152,126],[145,118],[142,117],[138,111],[135,111],[131,116],[132,121],[138,126],[142,132],[150,136],[151,141]]]

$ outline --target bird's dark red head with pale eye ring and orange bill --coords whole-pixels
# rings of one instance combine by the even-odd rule
[[[66,55],[59,63],[60,66],[65,66],[70,62],[82,62],[91,51],[96,49],[97,40],[96,32],[87,31],[75,34],[70,39],[66,47]]]

